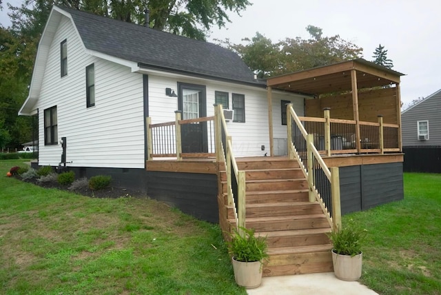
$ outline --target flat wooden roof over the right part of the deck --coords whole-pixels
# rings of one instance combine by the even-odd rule
[[[351,70],[356,70],[357,89],[400,83],[404,74],[381,65],[354,59],[267,79],[273,89],[318,95],[352,90]]]

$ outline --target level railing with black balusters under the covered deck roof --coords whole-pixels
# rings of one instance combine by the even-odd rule
[[[355,154],[401,152],[398,142],[400,126],[378,122],[332,119],[329,109],[323,118],[299,116],[308,134],[313,135],[314,145],[320,154]]]

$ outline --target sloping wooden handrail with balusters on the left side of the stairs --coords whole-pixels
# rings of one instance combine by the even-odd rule
[[[239,234],[245,228],[245,171],[240,171],[233,153],[232,136],[229,136],[222,105],[215,105],[216,161],[225,162],[227,174],[228,206],[233,207]]]

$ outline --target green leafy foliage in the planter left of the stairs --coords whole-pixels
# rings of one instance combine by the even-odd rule
[[[267,237],[256,236],[254,229],[240,227],[240,231],[234,229],[230,233],[231,241],[227,243],[228,252],[236,261],[254,262],[262,261],[268,257]]]

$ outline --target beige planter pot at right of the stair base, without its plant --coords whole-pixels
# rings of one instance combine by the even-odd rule
[[[363,253],[356,256],[340,255],[332,252],[334,274],[343,281],[357,281],[361,277]]]

